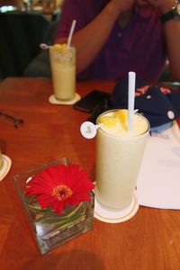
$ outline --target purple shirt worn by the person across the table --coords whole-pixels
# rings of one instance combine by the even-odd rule
[[[65,0],[56,38],[68,35],[72,21],[79,31],[99,14],[107,0]],[[95,36],[94,36],[95,39]],[[157,10],[139,8],[121,29],[118,22],[103,49],[78,79],[120,79],[129,71],[146,81],[157,80],[166,59],[165,39]]]

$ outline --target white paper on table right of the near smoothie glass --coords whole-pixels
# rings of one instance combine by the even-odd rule
[[[153,129],[139,172],[139,205],[180,209],[180,131],[176,121]],[[152,131],[153,131],[152,130]],[[157,132],[156,132],[157,131]]]

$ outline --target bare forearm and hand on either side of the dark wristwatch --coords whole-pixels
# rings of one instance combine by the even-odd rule
[[[148,3],[157,6],[161,14],[166,14],[175,5],[174,0],[148,0]],[[175,79],[180,80],[180,20],[164,23],[164,31],[170,70]]]

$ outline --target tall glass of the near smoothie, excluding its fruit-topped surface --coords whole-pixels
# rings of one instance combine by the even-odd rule
[[[149,132],[148,120],[139,113],[135,114],[145,125],[145,131],[139,135],[122,137],[103,128],[97,130],[95,197],[107,208],[124,209],[133,200]]]

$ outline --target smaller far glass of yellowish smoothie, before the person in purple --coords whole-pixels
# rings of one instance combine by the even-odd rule
[[[76,49],[49,48],[54,95],[60,101],[70,101],[76,94]]]

